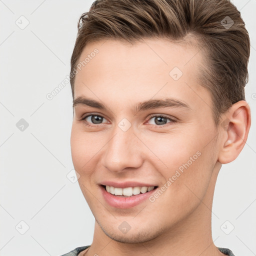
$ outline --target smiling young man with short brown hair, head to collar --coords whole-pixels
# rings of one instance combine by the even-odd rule
[[[249,37],[228,0],[98,0],[71,57],[71,155],[95,217],[67,255],[233,255],[214,245],[221,164],[247,139]]]

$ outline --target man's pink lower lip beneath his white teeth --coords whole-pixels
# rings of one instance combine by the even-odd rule
[[[110,206],[115,208],[125,209],[125,208],[134,207],[138,205],[140,202],[147,199],[155,191],[156,188],[152,189],[149,192],[145,192],[143,194],[142,193],[136,194],[129,197],[120,197],[120,196],[116,196],[111,193],[108,193],[102,185],[100,185],[100,189],[102,191],[102,195],[104,199]]]

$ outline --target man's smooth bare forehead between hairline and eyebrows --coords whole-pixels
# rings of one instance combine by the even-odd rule
[[[74,98],[108,95],[109,102],[118,97],[128,103],[166,95],[190,101],[200,100],[198,93],[206,93],[205,100],[209,97],[198,83],[198,68],[204,65],[202,52],[188,43],[165,39],[132,44],[110,39],[90,42],[79,63]]]

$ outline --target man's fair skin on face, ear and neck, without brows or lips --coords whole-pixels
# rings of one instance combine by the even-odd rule
[[[86,96],[107,109],[75,105],[70,138],[79,186],[95,217],[91,246],[79,256],[223,255],[211,236],[212,198],[221,164],[234,160],[247,139],[248,104],[233,104],[215,126],[210,92],[197,82],[204,59],[191,45],[108,39],[87,44],[80,61],[94,48],[99,52],[76,74],[74,98]],[[183,72],[176,81],[169,75],[174,66]],[[164,97],[188,107],[133,111],[141,101]],[[80,119],[89,114],[104,119],[94,124],[89,116],[93,126],[86,126]],[[166,123],[157,124],[152,114],[164,114]],[[127,131],[118,127],[123,118],[131,124]],[[198,151],[200,156],[154,202],[118,209],[101,194],[103,179],[161,187]],[[122,221],[131,227],[125,234],[118,229]]]

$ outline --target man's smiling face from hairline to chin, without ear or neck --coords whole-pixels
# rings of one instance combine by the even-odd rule
[[[197,52],[163,39],[106,40],[89,43],[80,56],[89,54],[76,74],[74,99],[105,108],[74,106],[72,160],[96,223],[115,240],[147,241],[199,221],[203,210],[210,214],[217,133],[211,95],[197,83],[204,64]],[[158,101],[167,98],[167,106]],[[120,197],[105,185],[132,187],[112,193],[143,193]]]

